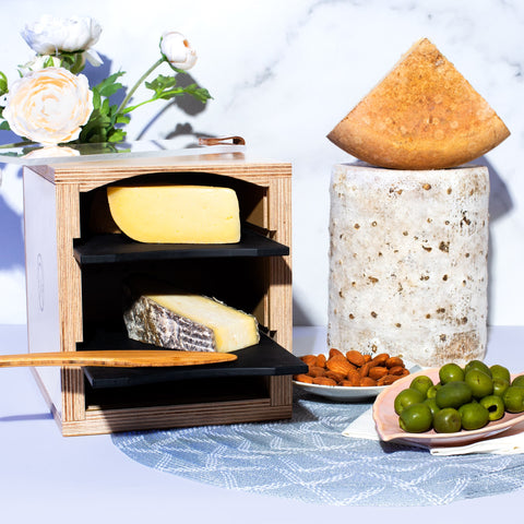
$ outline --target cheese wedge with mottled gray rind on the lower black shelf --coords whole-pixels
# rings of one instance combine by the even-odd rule
[[[169,349],[228,353],[260,340],[254,317],[187,293],[143,294],[123,320],[130,338]]]

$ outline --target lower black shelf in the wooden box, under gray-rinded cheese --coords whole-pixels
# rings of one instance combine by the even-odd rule
[[[78,350],[158,349],[156,346],[132,341],[126,333],[102,330],[98,330],[91,340],[79,343],[76,346]],[[261,333],[259,344],[233,353],[238,356],[237,360],[233,362],[166,368],[85,367],[84,374],[90,385],[97,390],[157,384],[186,379],[271,377],[308,371],[308,367],[298,357],[264,333]]]

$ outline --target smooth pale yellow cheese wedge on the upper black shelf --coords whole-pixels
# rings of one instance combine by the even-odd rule
[[[237,194],[210,186],[110,186],[112,219],[133,240],[233,243],[240,240]]]

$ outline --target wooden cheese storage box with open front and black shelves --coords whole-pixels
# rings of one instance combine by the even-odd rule
[[[100,233],[106,187],[121,180],[235,189],[240,245],[148,246]],[[262,331],[260,347],[218,370],[35,368],[64,436],[290,417],[291,376],[302,371],[290,353],[290,183],[289,164],[241,154],[24,166],[31,353],[140,345],[121,331],[121,283],[134,272],[195,286],[253,313]]]

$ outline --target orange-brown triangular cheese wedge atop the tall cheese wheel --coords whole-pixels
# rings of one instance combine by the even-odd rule
[[[488,103],[424,38],[327,138],[376,166],[441,169],[478,158],[509,134]]]

